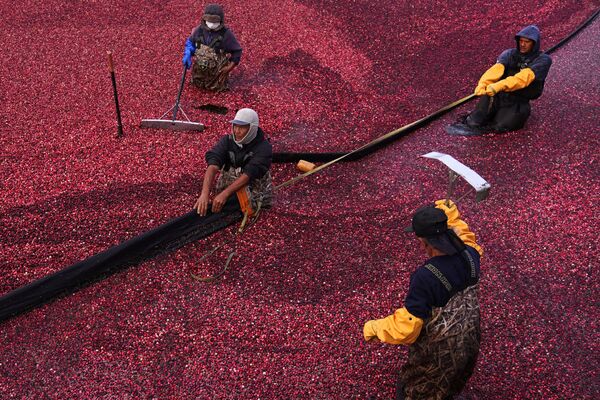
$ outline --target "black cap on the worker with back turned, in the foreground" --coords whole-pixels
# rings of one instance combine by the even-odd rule
[[[419,208],[413,215],[412,226],[405,228],[404,231],[414,232],[418,237],[427,239],[430,245],[444,254],[455,254],[458,248],[462,247],[462,241],[454,231],[448,229],[446,213],[432,206]],[[453,244],[453,241],[456,244]]]

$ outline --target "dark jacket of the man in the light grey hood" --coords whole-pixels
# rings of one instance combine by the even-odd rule
[[[225,170],[231,167],[242,168],[250,182],[262,178],[269,171],[272,159],[273,148],[260,128],[254,140],[242,147],[233,141],[231,135],[225,135],[206,152],[208,165],[216,165]]]

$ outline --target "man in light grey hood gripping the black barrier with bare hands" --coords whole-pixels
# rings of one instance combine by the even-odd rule
[[[269,168],[273,149],[258,126],[258,115],[250,108],[242,108],[231,124],[232,133],[223,136],[206,153],[208,167],[200,197],[194,205],[200,215],[206,215],[208,211],[220,212],[228,204],[252,216],[260,208],[268,208],[272,204],[273,186]],[[219,171],[211,203],[210,194]]]

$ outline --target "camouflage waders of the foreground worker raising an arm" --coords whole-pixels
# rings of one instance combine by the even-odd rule
[[[455,294],[425,321],[400,372],[406,400],[452,398],[464,388],[479,354],[478,288],[470,286]]]

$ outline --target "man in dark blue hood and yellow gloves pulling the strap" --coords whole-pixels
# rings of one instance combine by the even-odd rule
[[[480,100],[465,120],[471,129],[464,135],[521,129],[531,113],[529,101],[542,95],[552,59],[540,51],[540,30],[529,25],[515,41],[516,48],[502,52],[479,79],[475,95]]]

